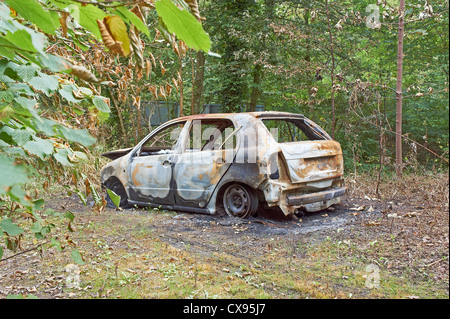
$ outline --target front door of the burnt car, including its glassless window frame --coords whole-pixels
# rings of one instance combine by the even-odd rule
[[[174,203],[173,167],[184,124],[182,121],[162,127],[136,148],[128,166],[131,201]]]

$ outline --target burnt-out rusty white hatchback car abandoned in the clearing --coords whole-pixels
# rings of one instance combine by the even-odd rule
[[[345,194],[340,144],[303,115],[201,114],[168,121],[133,148],[102,154],[102,185],[120,205],[234,217],[258,207],[289,216]]]

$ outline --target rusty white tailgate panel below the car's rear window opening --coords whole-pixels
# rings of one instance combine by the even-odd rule
[[[343,175],[341,146],[333,140],[280,143],[292,183],[332,179]]]

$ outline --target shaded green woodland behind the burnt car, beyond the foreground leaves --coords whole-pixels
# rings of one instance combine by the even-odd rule
[[[378,169],[381,157],[390,172],[396,3],[334,1],[327,7],[325,1],[199,1],[211,51],[220,57],[189,49],[177,55],[159,40],[146,44],[144,56],[151,52],[156,59],[151,75],[119,79],[127,89],[116,93],[123,97],[118,104],[126,132],[113,111],[105,141],[130,146],[148,133],[127,107],[136,98],[179,103],[185,115],[202,113],[205,104],[220,104],[224,112],[261,105],[302,113],[324,127],[342,144],[347,171]],[[370,24],[375,14],[379,24]],[[410,171],[447,167],[448,2],[408,1],[405,14],[404,166]],[[154,28],[150,33],[152,40],[161,38]]]

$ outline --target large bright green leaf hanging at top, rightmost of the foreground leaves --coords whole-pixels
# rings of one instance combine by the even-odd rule
[[[167,30],[170,33],[175,33],[188,47],[204,52],[211,49],[211,40],[208,34],[190,12],[180,10],[170,0],[156,1],[155,8],[158,16],[164,21]]]

